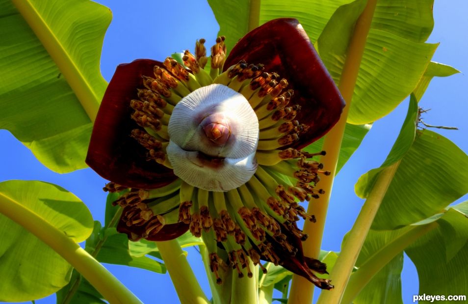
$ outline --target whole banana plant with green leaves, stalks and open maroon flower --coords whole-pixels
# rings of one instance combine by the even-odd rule
[[[431,61],[433,4],[208,0],[216,37],[107,83],[107,7],[1,0],[0,127],[54,172],[89,166],[107,198],[101,222],[48,181],[1,182],[0,301],[142,303],[105,263],[167,271],[181,303],[403,303],[404,253],[419,295],[466,296],[468,157],[422,118],[431,80],[459,72]],[[182,34],[146,10],[132,48]],[[405,99],[387,158],[348,181],[364,202],[341,250],[323,248],[338,171]]]

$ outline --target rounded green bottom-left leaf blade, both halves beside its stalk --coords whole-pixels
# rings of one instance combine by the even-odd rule
[[[92,232],[88,208],[73,193],[39,181],[0,183],[0,199],[22,204],[75,242]],[[70,280],[71,265],[16,222],[0,214],[0,301],[48,296]]]

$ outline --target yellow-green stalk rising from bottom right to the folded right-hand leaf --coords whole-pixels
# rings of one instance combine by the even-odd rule
[[[346,242],[343,244],[341,253],[338,255],[337,262],[330,273],[330,279],[335,285],[331,292],[320,294],[317,304],[340,303],[341,298],[348,283],[349,276],[353,271],[354,264],[358,259],[359,252],[363,247],[367,232],[374,221],[375,214],[379,210],[380,203],[387,193],[393,175],[400,165],[400,161],[385,167],[379,173],[372,191],[367,196],[363,208],[354,222],[349,232]]]

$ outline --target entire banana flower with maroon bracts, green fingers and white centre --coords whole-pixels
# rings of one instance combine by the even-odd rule
[[[183,65],[168,57],[122,64],[96,118],[87,163],[122,192],[117,229],[131,240],[202,237],[210,269],[252,276],[248,258],[281,264],[320,288],[321,262],[303,255],[299,202],[316,198],[323,165],[300,148],[323,136],[344,102],[294,19],[251,31],[226,57],[225,37],[205,40]],[[223,72],[224,64],[224,72]],[[221,72],[221,73],[220,73]],[[218,255],[226,250],[227,260]],[[261,266],[261,264],[260,264]]]

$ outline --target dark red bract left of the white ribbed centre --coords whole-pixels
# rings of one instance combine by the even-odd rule
[[[104,93],[94,123],[86,163],[99,175],[117,184],[138,189],[156,189],[177,179],[171,169],[148,162],[147,151],[130,137],[138,128],[130,118],[130,100],[138,99],[143,75],[153,75],[159,61],[138,59],[120,64]]]

